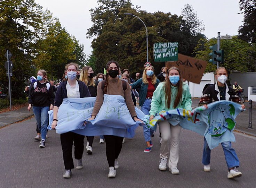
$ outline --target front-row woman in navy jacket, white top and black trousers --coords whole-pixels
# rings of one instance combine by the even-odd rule
[[[54,108],[53,108],[53,123],[51,128],[55,129],[57,126],[57,114],[59,106],[62,104],[65,98],[83,98],[90,97],[89,90],[85,83],[76,79],[78,65],[76,63],[69,63],[65,67],[67,72],[67,80],[63,80],[59,85],[59,88],[55,94]],[[63,178],[71,177],[71,169],[74,168],[73,158],[72,158],[72,147],[75,147],[75,159],[78,160],[76,169],[82,169],[82,156],[83,156],[83,139],[85,136],[79,135],[73,132],[67,132],[61,134],[61,146],[63,152],[63,160],[65,165],[65,173]]]

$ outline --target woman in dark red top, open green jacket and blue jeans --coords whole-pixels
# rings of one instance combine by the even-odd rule
[[[144,69],[142,78],[131,84],[131,89],[139,89],[139,106],[145,115],[149,114],[152,96],[159,83],[160,81],[154,75],[154,68],[149,66]],[[144,153],[149,153],[153,146],[151,136],[154,130],[143,126],[143,132],[147,144]]]

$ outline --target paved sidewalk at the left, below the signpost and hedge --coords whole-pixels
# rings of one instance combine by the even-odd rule
[[[33,108],[31,108],[31,116],[34,115]],[[10,125],[21,121],[23,119],[29,118],[30,114],[27,110],[27,106],[24,106],[18,110],[12,110],[9,112],[0,113],[0,128],[6,125]]]

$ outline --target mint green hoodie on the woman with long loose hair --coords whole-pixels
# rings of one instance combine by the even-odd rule
[[[181,102],[179,102],[176,109],[184,108],[185,110],[192,110],[191,108],[192,101],[191,101],[191,94],[189,92],[189,86],[183,82],[182,88],[183,88],[183,91],[182,91]],[[173,85],[171,85],[171,94],[174,97],[172,97],[171,99],[170,108],[167,109],[165,106],[165,82],[161,82],[153,93],[151,110],[149,111],[150,115],[155,116],[155,114],[159,113],[162,110],[165,110],[165,111],[173,110],[174,109],[173,105],[174,105],[177,93],[178,93],[178,87],[174,87]]]

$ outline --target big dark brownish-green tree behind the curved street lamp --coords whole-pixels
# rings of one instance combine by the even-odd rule
[[[130,0],[99,0],[98,4],[98,7],[90,10],[94,24],[87,32],[88,37],[97,36],[92,42],[96,72],[102,72],[109,60],[117,60],[121,69],[128,68],[132,76],[144,69],[146,29],[138,18],[124,15],[126,12],[141,18],[147,27],[149,61],[156,68],[156,73],[165,66],[165,62],[153,62],[154,43],[178,42],[180,53],[192,55],[197,41],[205,37],[200,33],[183,31],[181,28],[185,22],[182,17],[170,12],[149,13],[140,10],[140,7],[134,8]]]

